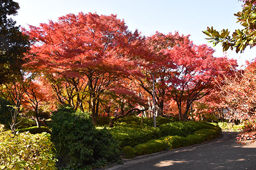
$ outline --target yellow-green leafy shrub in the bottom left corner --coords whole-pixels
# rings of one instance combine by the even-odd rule
[[[50,134],[0,133],[0,169],[56,169]]]

